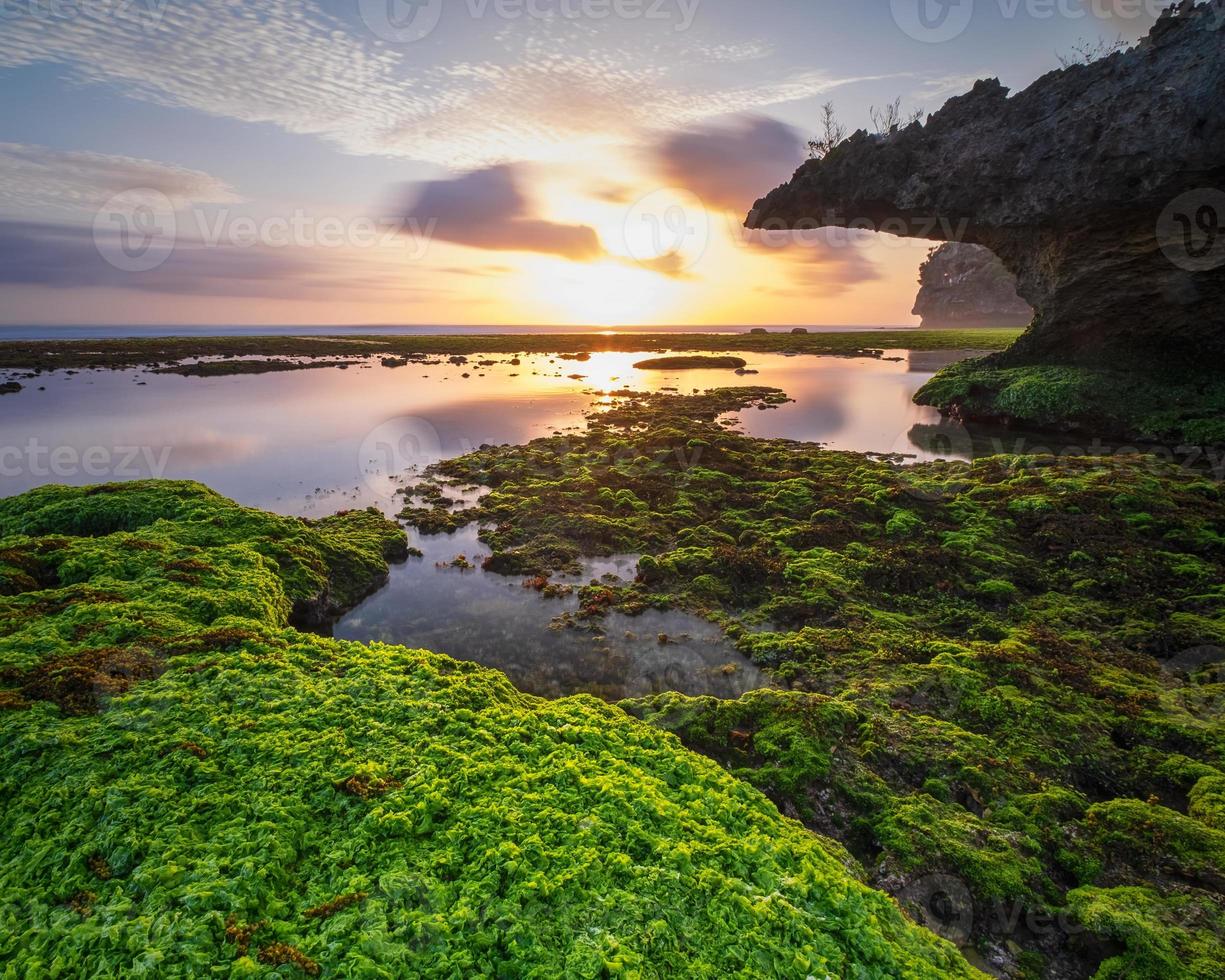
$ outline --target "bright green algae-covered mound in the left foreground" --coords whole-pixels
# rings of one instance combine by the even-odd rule
[[[289,626],[402,549],[195,484],[0,501],[6,693],[100,650],[160,668],[0,710],[5,975],[974,975],[675,736]]]

